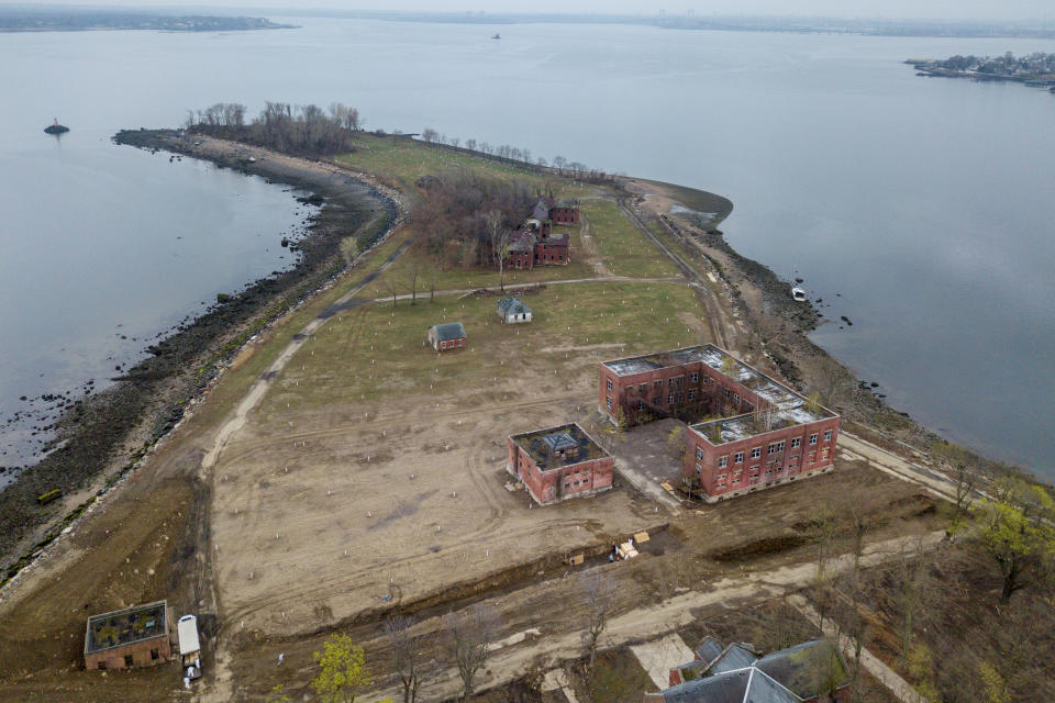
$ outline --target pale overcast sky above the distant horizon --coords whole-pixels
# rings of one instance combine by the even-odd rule
[[[16,0],[18,1],[18,0]],[[2,2],[2,0],[0,0]],[[1044,19],[1055,0],[21,0],[20,4],[114,4],[122,7],[341,8],[487,12],[602,12],[656,14],[820,14],[869,18]]]

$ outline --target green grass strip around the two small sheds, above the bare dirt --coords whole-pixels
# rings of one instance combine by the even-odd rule
[[[287,403],[296,410],[375,401],[393,392],[458,397],[480,378],[499,379],[488,389],[497,393],[522,368],[518,352],[545,360],[546,373],[556,370],[554,376],[566,378],[565,359],[571,361],[570,370],[581,366],[584,356],[600,360],[688,346],[699,343],[706,330],[696,295],[679,283],[552,286],[524,298],[534,312],[530,325],[502,325],[496,301],[442,297],[433,303],[371,303],[342,313],[298,353],[284,373],[286,392],[276,389],[259,412],[278,422]],[[430,325],[454,321],[468,334],[464,352],[437,355],[425,346]],[[540,382],[553,384],[553,378]]]

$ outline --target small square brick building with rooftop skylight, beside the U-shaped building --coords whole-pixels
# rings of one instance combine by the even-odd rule
[[[614,457],[576,424],[509,438],[506,470],[542,504],[607,491],[614,467]]]

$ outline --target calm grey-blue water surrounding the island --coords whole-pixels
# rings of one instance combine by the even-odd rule
[[[340,100],[368,127],[431,126],[730,197],[730,242],[854,322],[820,344],[918,420],[1055,478],[1055,97],[900,63],[1055,42],[581,25],[501,26],[496,42],[478,25],[298,23],[0,36],[4,395],[36,384],[56,348],[48,373],[90,375],[119,322],[156,332],[269,269],[291,224],[273,188],[106,136],[220,100]],[[76,130],[60,146],[40,134],[53,114]],[[48,197],[55,182],[73,194]],[[191,232],[197,246],[175,241]],[[230,250],[180,258],[207,246]]]

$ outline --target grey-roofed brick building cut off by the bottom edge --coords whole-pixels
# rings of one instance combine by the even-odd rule
[[[847,703],[849,674],[839,649],[814,639],[760,656],[749,645],[707,637],[695,659],[670,669],[670,688],[644,703]]]

